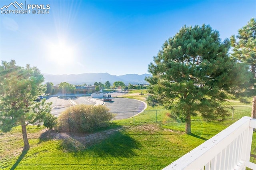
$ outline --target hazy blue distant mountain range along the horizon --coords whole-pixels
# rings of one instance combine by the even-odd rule
[[[109,81],[110,84],[113,84],[115,81],[122,81],[125,84],[141,84],[147,83],[145,81],[145,77],[150,76],[150,74],[126,74],[126,75],[110,75],[108,73],[83,73],[83,74],[70,74],[70,75],[51,75],[44,74],[44,83],[52,82],[54,85],[59,84],[61,82],[68,82],[74,85],[82,85],[86,83],[87,85],[93,85],[94,82],[102,82],[105,83]]]

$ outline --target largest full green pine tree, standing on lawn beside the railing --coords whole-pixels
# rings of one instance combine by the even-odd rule
[[[228,115],[226,99],[243,94],[248,71],[243,63],[230,59],[230,41],[221,42],[209,25],[182,27],[150,63],[150,105],[171,109],[171,116],[186,123],[191,133],[191,116],[223,119]]]

